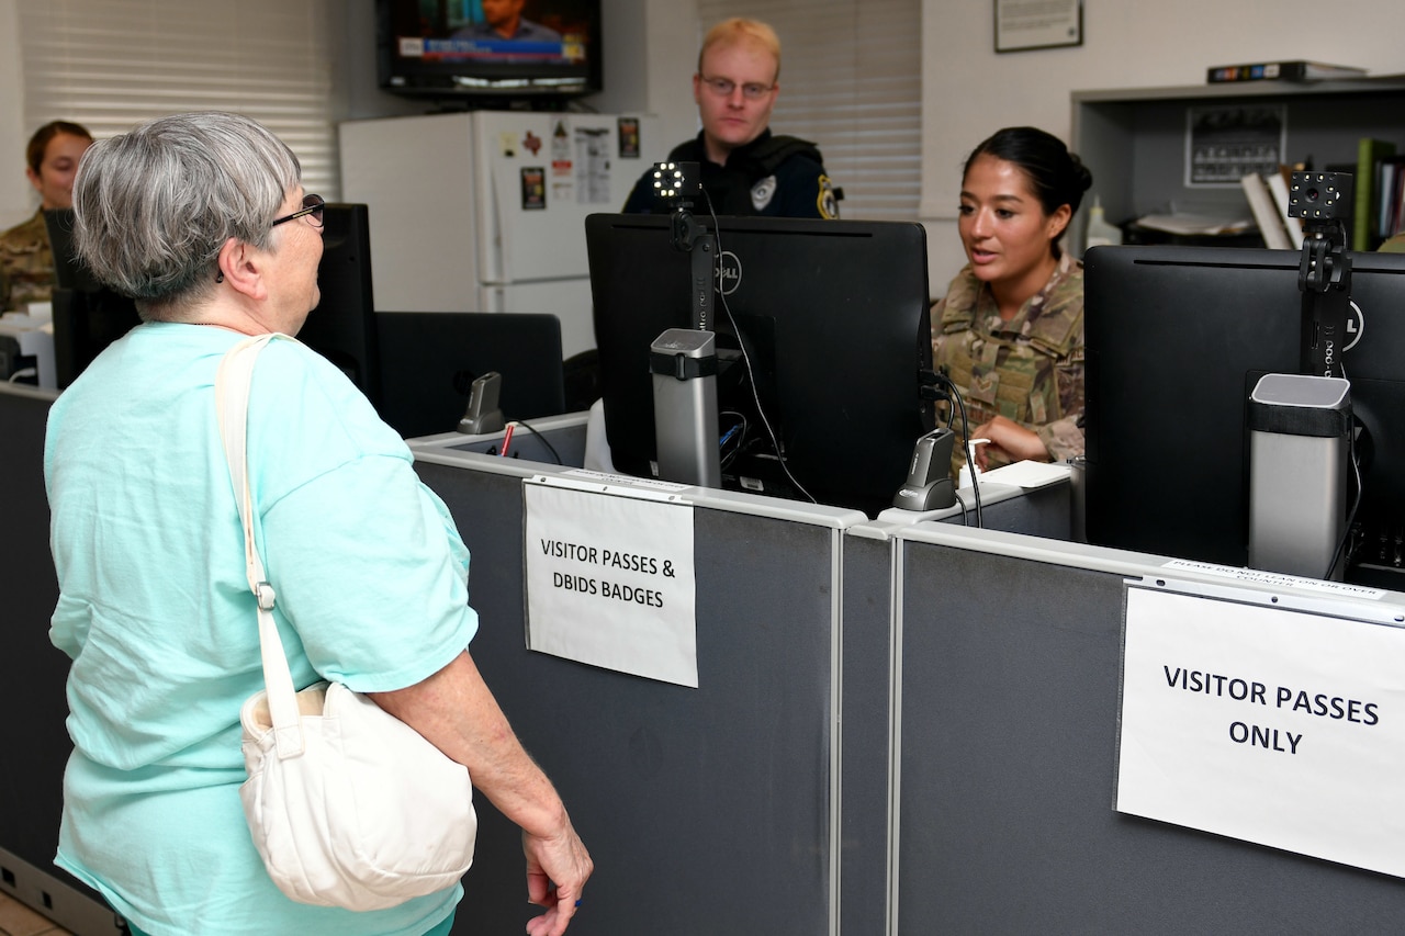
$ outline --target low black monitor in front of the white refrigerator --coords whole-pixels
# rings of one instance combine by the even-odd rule
[[[502,374],[503,417],[565,412],[561,319],[549,313],[378,312],[381,419],[406,438],[452,431],[479,377]]]

